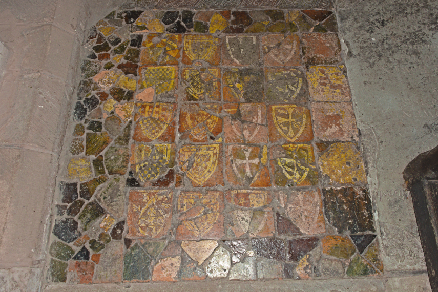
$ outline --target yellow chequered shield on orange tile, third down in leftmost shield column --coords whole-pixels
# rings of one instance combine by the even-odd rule
[[[151,140],[161,136],[172,121],[174,107],[173,103],[144,103],[139,109],[145,117],[139,121],[143,134]]]

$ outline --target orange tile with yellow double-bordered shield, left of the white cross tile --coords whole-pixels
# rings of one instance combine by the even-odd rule
[[[221,144],[183,145],[178,166],[193,186],[223,185]]]

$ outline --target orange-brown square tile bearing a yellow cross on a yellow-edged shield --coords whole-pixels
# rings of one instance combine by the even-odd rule
[[[310,111],[295,105],[268,107],[269,141],[305,142],[313,139]]]

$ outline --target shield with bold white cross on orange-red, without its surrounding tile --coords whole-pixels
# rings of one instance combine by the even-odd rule
[[[237,177],[246,180],[257,174],[260,168],[258,147],[245,147],[243,145],[231,145],[228,147],[228,157]]]

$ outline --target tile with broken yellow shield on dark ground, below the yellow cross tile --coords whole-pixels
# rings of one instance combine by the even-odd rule
[[[275,145],[270,165],[277,186],[305,186],[318,183],[314,149],[311,144]]]

